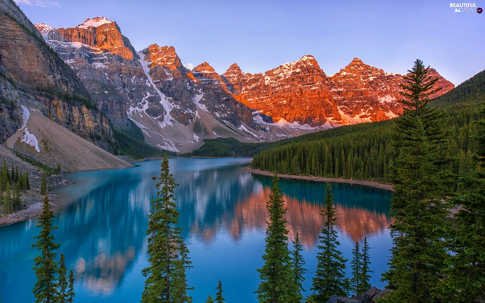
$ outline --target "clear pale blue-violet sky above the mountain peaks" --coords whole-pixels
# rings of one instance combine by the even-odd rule
[[[174,46],[184,64],[258,73],[313,55],[333,75],[354,57],[405,73],[417,58],[454,84],[485,69],[485,13],[448,1],[16,0],[33,23],[116,21],[137,49]],[[477,3],[485,8],[485,1]]]

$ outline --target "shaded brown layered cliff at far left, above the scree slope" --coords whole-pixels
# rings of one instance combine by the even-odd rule
[[[13,1],[0,0],[0,11],[1,141],[21,126],[20,105],[26,105],[83,138],[96,136],[107,148],[108,121],[81,81]]]

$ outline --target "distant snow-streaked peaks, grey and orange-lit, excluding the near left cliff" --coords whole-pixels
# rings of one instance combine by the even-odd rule
[[[35,27],[116,127],[132,128],[132,121],[147,143],[174,152],[204,139],[275,141],[402,111],[396,98],[403,77],[357,58],[332,77],[311,55],[254,75],[232,64],[219,75],[207,62],[189,70],[172,46],[136,51],[105,17],[72,28]],[[430,71],[443,92],[453,88]]]

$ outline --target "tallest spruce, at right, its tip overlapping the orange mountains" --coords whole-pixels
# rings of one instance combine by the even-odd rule
[[[448,254],[444,248],[449,223],[448,204],[441,202],[453,189],[444,170],[447,163],[445,112],[428,107],[437,78],[416,60],[401,85],[403,114],[395,119],[391,138],[395,157],[390,214],[393,247],[382,281],[394,291],[384,302],[431,302]]]

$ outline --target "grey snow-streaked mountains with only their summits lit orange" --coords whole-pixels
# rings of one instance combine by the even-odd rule
[[[157,44],[135,51],[116,22],[105,17],[86,19],[73,28],[35,27],[101,112],[121,129],[133,121],[154,146],[185,152],[202,145],[203,139],[261,142],[308,131],[281,128],[265,115],[253,119],[241,96],[232,94],[209,64],[191,71],[174,47]]]

